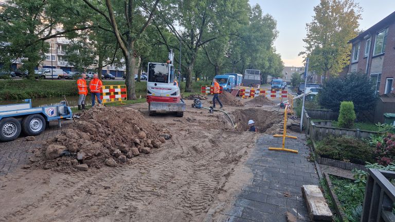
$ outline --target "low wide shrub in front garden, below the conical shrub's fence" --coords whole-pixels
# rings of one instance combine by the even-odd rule
[[[353,137],[329,136],[317,143],[316,153],[321,157],[364,164],[374,161],[374,147]]]

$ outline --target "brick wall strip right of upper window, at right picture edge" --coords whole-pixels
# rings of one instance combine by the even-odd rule
[[[381,74],[380,94],[384,94],[387,78],[395,77],[395,21],[388,27],[387,43]],[[392,84],[393,87],[393,84]]]

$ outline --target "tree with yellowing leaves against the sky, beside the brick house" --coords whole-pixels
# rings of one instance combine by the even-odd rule
[[[299,54],[310,58],[310,70],[328,78],[349,63],[348,41],[358,33],[362,9],[353,0],[321,0],[314,12],[303,39],[306,50]]]

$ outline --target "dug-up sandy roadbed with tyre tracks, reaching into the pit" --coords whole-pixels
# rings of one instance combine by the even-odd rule
[[[239,123],[235,129],[224,114],[191,108],[191,102],[184,118],[149,117],[147,104],[119,108],[139,110],[139,118],[159,131],[166,126],[172,138],[118,167],[68,173],[30,168],[0,177],[0,199],[7,200],[0,202],[0,221],[202,221],[235,165],[254,147],[257,134],[246,132],[246,121],[254,119],[262,133],[271,133],[281,116],[225,107]]]

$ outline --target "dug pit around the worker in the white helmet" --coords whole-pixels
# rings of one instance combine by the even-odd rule
[[[249,130],[248,120],[254,120],[259,133],[277,133],[281,128],[281,113],[259,108],[238,109],[231,113],[237,131]]]

